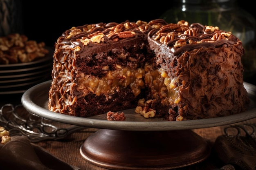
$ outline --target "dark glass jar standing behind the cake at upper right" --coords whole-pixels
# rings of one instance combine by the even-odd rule
[[[256,85],[256,22],[254,16],[240,8],[237,0],[175,0],[175,6],[160,18],[169,23],[186,20],[218,26],[238,37],[245,48],[242,57],[244,81]]]

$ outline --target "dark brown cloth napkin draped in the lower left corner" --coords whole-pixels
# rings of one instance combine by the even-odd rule
[[[0,144],[1,170],[80,170],[44,148],[33,144],[25,136],[11,137],[7,144]]]

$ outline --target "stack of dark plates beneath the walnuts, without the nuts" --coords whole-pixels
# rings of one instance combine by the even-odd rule
[[[24,93],[30,87],[51,79],[53,49],[32,62],[0,64],[0,95]]]

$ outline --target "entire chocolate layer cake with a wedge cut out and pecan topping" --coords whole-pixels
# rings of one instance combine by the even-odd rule
[[[199,23],[73,27],[55,44],[49,110],[88,117],[135,108],[168,121],[240,113],[249,103],[244,52],[230,32]]]

